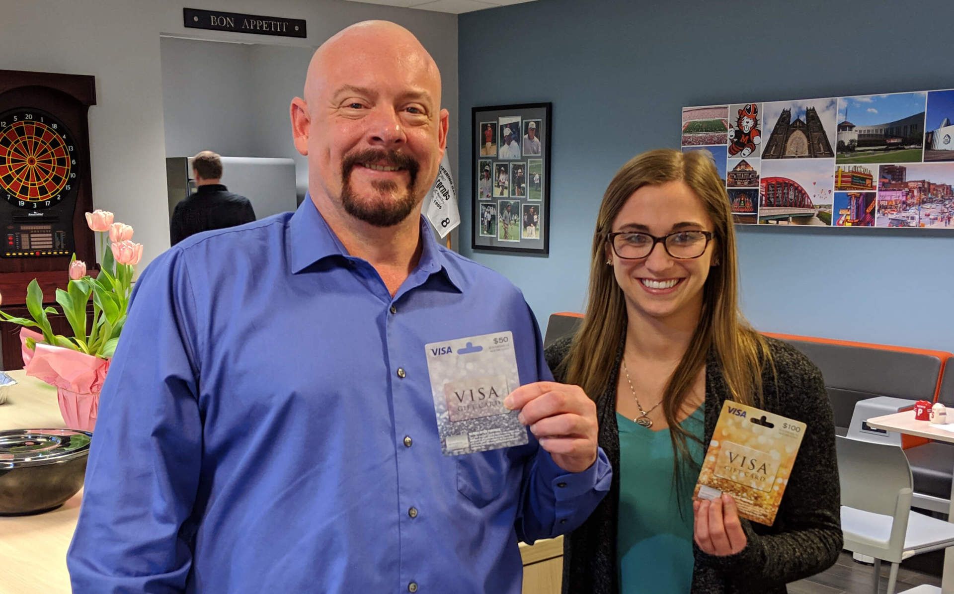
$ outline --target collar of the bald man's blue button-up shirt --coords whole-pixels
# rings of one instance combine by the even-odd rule
[[[446,248],[434,239],[430,225],[424,215],[421,216],[421,237],[424,238],[424,247],[421,250],[421,260],[411,275],[424,272],[428,276],[436,272],[444,272],[447,280],[457,290],[463,291],[463,279],[457,266],[449,261]],[[314,265],[326,258],[338,257],[343,260],[358,260],[348,254],[342,242],[331,230],[328,223],[321,216],[311,195],[305,194],[304,200],[288,223],[287,253],[292,274],[298,274],[310,265]]]

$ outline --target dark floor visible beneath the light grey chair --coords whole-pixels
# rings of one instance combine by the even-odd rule
[[[881,563],[881,592],[887,591],[890,567],[888,563]],[[796,583],[789,583],[788,591],[789,594],[870,594],[872,591],[872,571],[874,571],[874,567],[856,563],[852,561],[851,553],[842,551],[838,562],[834,566],[817,576]],[[940,586],[941,579],[916,569],[908,569],[902,565],[902,568],[898,571],[898,587],[895,591],[903,592],[922,583]]]

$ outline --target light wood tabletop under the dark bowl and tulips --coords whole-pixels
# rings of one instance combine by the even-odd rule
[[[18,383],[0,404],[0,429],[59,429],[63,417],[56,389],[23,370],[7,371]],[[0,516],[0,594],[70,592],[66,550],[73,538],[83,491],[52,512]]]

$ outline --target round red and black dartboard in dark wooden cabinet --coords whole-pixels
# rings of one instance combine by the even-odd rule
[[[31,210],[58,204],[76,185],[73,147],[67,127],[46,112],[0,114],[0,196]]]

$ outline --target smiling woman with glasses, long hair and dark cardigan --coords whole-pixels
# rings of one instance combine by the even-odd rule
[[[583,325],[547,350],[557,381],[596,401],[599,444],[619,477],[565,541],[565,592],[784,592],[835,562],[838,473],[821,375],[741,318],[736,276],[731,205],[708,153],[651,151],[617,172],[597,215]],[[740,519],[728,496],[692,501],[726,400],[808,425],[776,525]]]

